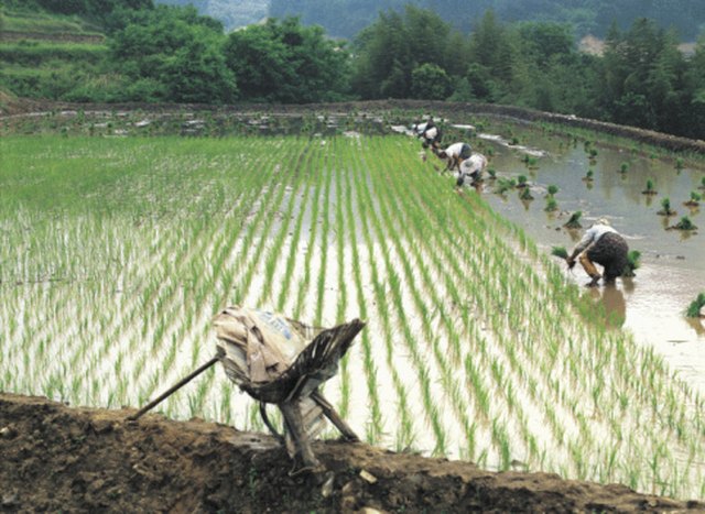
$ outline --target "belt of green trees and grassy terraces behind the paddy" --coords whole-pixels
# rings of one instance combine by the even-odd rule
[[[468,35],[408,4],[380,12],[351,42],[296,18],[227,33],[192,6],[151,0],[8,0],[0,12],[3,32],[17,36],[0,42],[0,88],[21,97],[475,101],[705,134],[705,37],[685,56],[675,35],[647,18],[612,24],[604,53],[590,55],[568,24],[508,23],[492,10]]]

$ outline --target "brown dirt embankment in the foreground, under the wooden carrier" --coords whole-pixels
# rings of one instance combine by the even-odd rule
[[[314,446],[327,475],[291,478],[270,436],[160,415],[126,422],[133,412],[0,393],[0,512],[705,511],[623,485],[337,441]]]

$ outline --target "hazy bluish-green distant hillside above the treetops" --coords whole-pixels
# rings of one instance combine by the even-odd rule
[[[694,41],[705,24],[703,0],[270,0],[270,15],[301,15],[304,24],[321,24],[338,37],[352,37],[379,11],[406,3],[430,9],[456,29],[468,32],[488,9],[503,22],[571,23],[577,36],[607,34],[612,21],[622,30],[637,18],[677,29],[682,41]]]

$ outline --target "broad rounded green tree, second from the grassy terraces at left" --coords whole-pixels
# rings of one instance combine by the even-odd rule
[[[345,45],[325,39],[319,26],[301,25],[296,18],[270,19],[232,32],[224,53],[246,100],[305,103],[345,98]]]

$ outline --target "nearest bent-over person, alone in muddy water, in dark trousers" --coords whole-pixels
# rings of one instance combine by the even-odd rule
[[[605,283],[611,283],[625,271],[627,253],[629,253],[629,247],[625,238],[610,227],[607,219],[600,218],[586,230],[583,239],[567,258],[567,263],[572,269],[575,265],[575,258],[579,254],[581,265],[593,278],[587,286],[593,287],[601,277],[593,262],[604,267]]]

